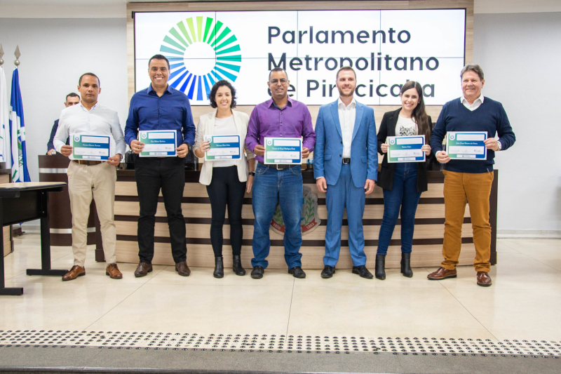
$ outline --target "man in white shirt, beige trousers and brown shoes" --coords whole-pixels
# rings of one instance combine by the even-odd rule
[[[112,279],[121,279],[116,264],[116,233],[113,205],[115,201],[116,166],[123,159],[126,143],[119,124],[117,112],[97,102],[100,94],[100,79],[93,73],[83,74],[79,79],[81,95],[79,105],[62,110],[54,145],[57,152],[65,156],[72,154],[72,145],[65,142],[69,135],[112,135],[116,154],[107,161],[72,160],[68,166],[68,194],[72,211],[72,251],[74,267],[62,276],[63,281],[71,281],[86,275],[86,241],[90,203],[95,200],[97,217],[100,218],[103,251],[107,268],[105,274]]]

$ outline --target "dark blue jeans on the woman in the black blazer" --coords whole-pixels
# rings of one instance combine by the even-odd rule
[[[415,212],[421,193],[417,192],[417,163],[396,163],[393,189],[384,189],[384,218],[381,220],[377,255],[386,255],[401,208],[401,253],[411,253]]]

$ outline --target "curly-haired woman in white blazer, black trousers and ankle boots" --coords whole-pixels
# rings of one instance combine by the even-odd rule
[[[209,95],[210,106],[217,110],[204,114],[198,120],[194,152],[199,158],[205,156],[210,144],[205,135],[240,135],[240,158],[231,160],[215,160],[203,162],[201,178],[198,180],[206,185],[212,222],[210,224],[210,242],[215,253],[215,278],[224,276],[222,258],[222,227],[226,207],[230,223],[230,241],[234,256],[234,273],[245,275],[241,266],[241,241],[243,229],[241,225],[241,208],[245,192],[251,192],[255,175],[255,154],[245,149],[245,134],[248,132],[250,117],[243,112],[232,110],[236,107],[236,89],[229,81],[217,81]],[[244,152],[245,149],[245,152]],[[245,156],[247,153],[247,156]]]

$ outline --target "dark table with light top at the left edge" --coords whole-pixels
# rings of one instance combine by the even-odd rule
[[[0,184],[0,226],[41,220],[41,269],[27,269],[27,275],[63,276],[68,270],[50,269],[48,192],[61,192],[66,183],[17,182]],[[0,231],[0,243],[4,241]],[[4,256],[0,256],[0,295],[22,295],[23,288],[6,288]]]

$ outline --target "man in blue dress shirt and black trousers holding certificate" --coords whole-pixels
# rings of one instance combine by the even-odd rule
[[[140,263],[135,276],[152,271],[154,258],[154,225],[160,189],[165,211],[168,213],[170,242],[175,271],[189,276],[187,241],[181,200],[185,186],[183,158],[195,142],[195,125],[189,98],[168,85],[170,62],[163,55],[154,55],[148,62],[151,85],[138,91],[130,100],[125,140],[135,154],[144,143],[137,140],[138,131],[177,131],[177,157],[135,157],[135,180],[140,202],[138,219],[138,257]]]

